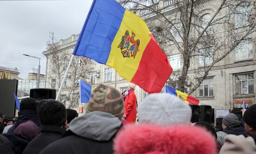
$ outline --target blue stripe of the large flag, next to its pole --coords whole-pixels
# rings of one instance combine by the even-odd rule
[[[106,64],[124,12],[115,0],[94,0],[73,54]]]

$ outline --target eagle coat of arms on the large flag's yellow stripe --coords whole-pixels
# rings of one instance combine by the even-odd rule
[[[140,40],[134,40],[135,33],[132,32],[132,36],[129,35],[127,30],[122,36],[121,43],[118,47],[121,48],[121,53],[123,57],[133,57],[135,58],[137,52],[139,51]]]

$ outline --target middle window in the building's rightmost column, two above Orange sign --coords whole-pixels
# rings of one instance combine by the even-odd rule
[[[253,41],[250,39],[242,40],[236,46],[236,60],[253,58]]]

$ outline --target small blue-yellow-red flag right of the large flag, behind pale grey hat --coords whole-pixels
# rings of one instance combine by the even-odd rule
[[[192,97],[188,94],[182,93],[181,91],[176,90],[172,87],[165,86],[165,91],[166,91],[166,93],[170,93],[170,94],[173,94],[173,95],[179,97],[180,99],[182,99],[187,104],[196,104],[196,105],[198,105],[198,103],[199,103],[199,100],[197,100],[196,98],[194,98],[194,97]]]

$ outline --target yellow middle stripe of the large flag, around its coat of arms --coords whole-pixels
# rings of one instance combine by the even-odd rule
[[[127,30],[130,37],[132,36],[132,33],[135,33],[135,41],[140,40],[139,50],[135,58],[131,56],[123,57],[121,54],[121,48],[118,47]],[[132,80],[139,66],[143,51],[151,39],[149,35],[145,35],[147,33],[150,33],[150,31],[148,30],[146,23],[135,13],[126,10],[120,28],[112,42],[111,51],[106,65],[115,68],[122,78],[125,78],[128,81]]]

